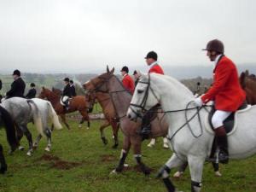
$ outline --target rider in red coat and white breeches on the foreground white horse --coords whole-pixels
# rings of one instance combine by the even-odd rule
[[[228,141],[223,122],[245,102],[246,95],[241,89],[235,64],[224,55],[224,44],[214,39],[204,50],[207,50],[210,60],[215,61],[213,84],[212,88],[205,95],[196,98],[194,103],[201,107],[203,103],[214,101],[216,111],[212,116],[212,126],[219,148],[218,160],[228,163]]]

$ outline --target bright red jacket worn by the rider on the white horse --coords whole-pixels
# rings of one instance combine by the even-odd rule
[[[235,64],[226,56],[222,56],[213,71],[213,84],[204,96],[203,102],[213,100],[217,110],[234,112],[246,100],[241,89]]]

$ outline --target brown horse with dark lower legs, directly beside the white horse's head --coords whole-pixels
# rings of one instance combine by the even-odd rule
[[[123,84],[113,75],[113,71],[114,69],[109,71],[107,68],[107,73],[103,73],[83,84],[87,94],[95,92],[98,96],[102,95],[99,102],[106,102],[104,105],[108,106],[108,108],[105,108],[104,113],[107,113],[110,119],[119,119],[121,130],[124,133],[125,138],[119,166],[113,172],[122,172],[125,159],[132,146],[137,165],[144,174],[149,174],[150,169],[142,161],[141,148],[143,141],[139,135],[141,122],[133,122],[126,117],[126,112],[131,102],[131,93],[125,90]],[[152,134],[150,138],[166,136],[168,125],[163,118],[163,113],[157,113],[157,117],[151,122]]]

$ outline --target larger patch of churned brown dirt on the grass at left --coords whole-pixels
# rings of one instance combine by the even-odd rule
[[[81,162],[70,162],[67,160],[61,160],[61,158],[51,155],[51,154],[43,154],[42,157],[40,157],[36,161],[49,161],[51,163],[51,167],[55,169],[60,169],[60,170],[69,170],[73,169],[76,166],[81,166]]]

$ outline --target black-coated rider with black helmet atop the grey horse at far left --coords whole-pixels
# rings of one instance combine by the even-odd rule
[[[26,84],[23,79],[20,78],[20,71],[15,70],[13,73],[13,77],[15,81],[11,84],[11,89],[6,93],[6,98],[8,99],[15,96],[24,98]]]

